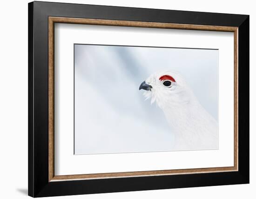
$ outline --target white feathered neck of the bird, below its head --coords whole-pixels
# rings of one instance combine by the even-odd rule
[[[216,120],[199,103],[165,106],[163,112],[175,135],[175,150],[216,149]]]

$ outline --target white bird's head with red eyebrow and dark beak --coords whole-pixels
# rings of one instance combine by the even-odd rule
[[[151,98],[151,104],[156,102],[160,108],[188,104],[193,99],[191,89],[177,72],[154,73],[141,83],[141,89],[146,99]]]

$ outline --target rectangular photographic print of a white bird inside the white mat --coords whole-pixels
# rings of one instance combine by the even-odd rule
[[[218,149],[218,49],[74,44],[74,154]]]

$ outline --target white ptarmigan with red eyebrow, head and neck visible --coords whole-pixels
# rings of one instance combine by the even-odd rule
[[[146,99],[162,109],[175,133],[173,150],[218,149],[218,125],[177,72],[159,72],[143,81]]]

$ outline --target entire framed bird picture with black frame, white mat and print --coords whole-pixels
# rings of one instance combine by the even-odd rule
[[[28,4],[28,194],[249,183],[249,16]]]

